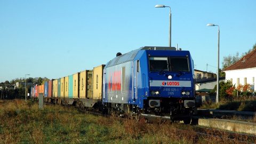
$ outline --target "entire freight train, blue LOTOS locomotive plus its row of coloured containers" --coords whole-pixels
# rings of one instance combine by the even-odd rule
[[[195,111],[194,63],[189,51],[145,46],[106,65],[31,87],[45,102],[104,114],[167,117],[190,123]]]

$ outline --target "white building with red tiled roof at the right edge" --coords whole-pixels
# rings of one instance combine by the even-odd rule
[[[226,81],[231,81],[236,87],[239,84],[250,84],[254,91],[254,78],[256,77],[256,50],[245,55],[242,59],[227,67],[224,71],[226,73]]]

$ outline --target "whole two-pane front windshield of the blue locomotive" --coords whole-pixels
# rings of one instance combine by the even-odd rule
[[[150,71],[189,71],[187,57],[149,57]]]

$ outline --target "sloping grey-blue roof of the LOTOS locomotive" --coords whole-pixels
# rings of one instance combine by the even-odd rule
[[[140,47],[139,49],[137,50],[133,50],[131,52],[127,52],[125,54],[122,54],[122,55],[119,55],[118,57],[114,58],[113,60],[110,60],[106,67],[111,67],[111,66],[115,66],[119,63],[124,63],[124,62],[127,62],[127,61],[131,61],[133,60],[137,53],[140,51],[140,50],[171,50],[171,51],[176,51],[176,48],[175,47],[159,47],[159,46],[144,46],[144,47]]]

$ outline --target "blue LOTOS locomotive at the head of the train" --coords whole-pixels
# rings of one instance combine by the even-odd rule
[[[194,76],[189,51],[145,46],[118,53],[103,69],[102,102],[108,113],[190,123],[195,109]]]

